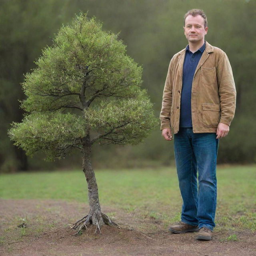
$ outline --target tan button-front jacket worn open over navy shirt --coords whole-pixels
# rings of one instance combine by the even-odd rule
[[[185,49],[175,54],[164,86],[161,130],[180,124],[180,96]],[[219,122],[230,125],[236,108],[236,88],[225,52],[206,42],[192,82],[191,110],[194,133],[216,132]]]

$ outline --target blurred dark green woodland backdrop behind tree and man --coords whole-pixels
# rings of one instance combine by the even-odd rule
[[[1,0],[0,1],[0,170],[72,168],[80,158],[68,156],[54,164],[43,155],[27,158],[7,136],[10,123],[23,118],[18,100],[20,83],[42,48],[51,45],[62,24],[80,11],[96,16],[104,30],[121,32],[127,53],[143,66],[142,87],[161,110],[162,91],[172,56],[186,47],[183,16],[200,8],[208,17],[206,40],[224,50],[233,69],[237,89],[236,115],[229,135],[220,141],[218,163],[256,162],[256,1],[255,0]],[[174,164],[173,143],[161,136],[160,126],[138,146],[106,146],[94,152],[94,166],[104,168]]]

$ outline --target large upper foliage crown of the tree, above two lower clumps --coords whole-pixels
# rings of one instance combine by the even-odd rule
[[[22,108],[28,112],[78,106],[84,84],[86,100],[95,97],[127,97],[141,84],[142,68],[125,53],[116,34],[102,31],[86,14],[62,26],[53,46],[46,47],[22,84],[28,96]],[[133,95],[132,95],[133,96]]]

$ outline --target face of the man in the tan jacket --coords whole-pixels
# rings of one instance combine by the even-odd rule
[[[208,27],[204,28],[204,18],[201,15],[188,15],[185,20],[184,34],[188,42],[204,41],[204,35],[207,34]]]

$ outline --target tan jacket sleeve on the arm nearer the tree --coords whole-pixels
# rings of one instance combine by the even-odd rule
[[[167,77],[164,85],[162,110],[160,112],[161,130],[170,128],[170,112],[172,106],[172,60],[167,72]]]

